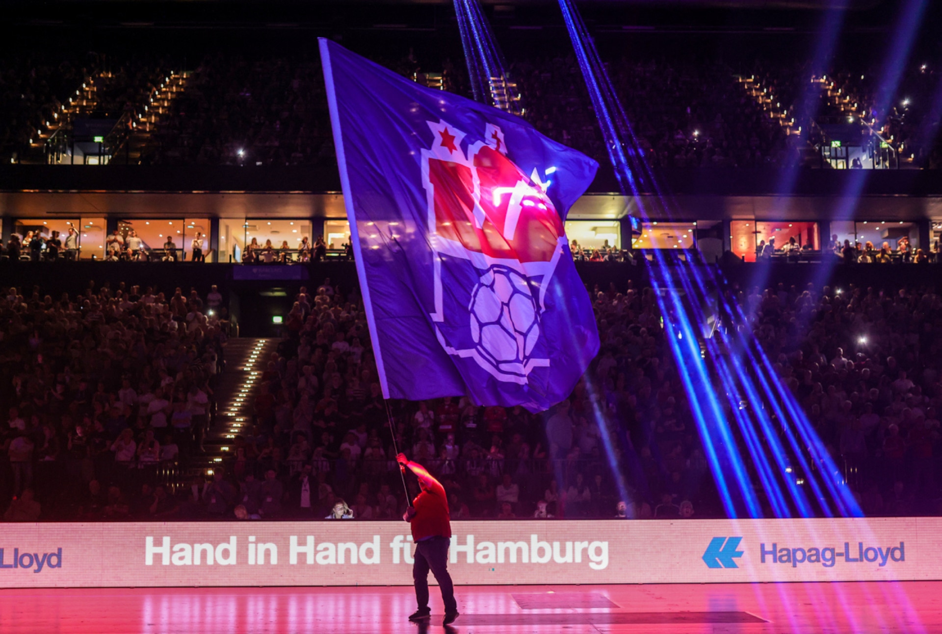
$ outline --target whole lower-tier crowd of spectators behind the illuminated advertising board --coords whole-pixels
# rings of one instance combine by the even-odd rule
[[[937,512],[942,299],[728,293],[865,512]],[[387,410],[359,298],[330,280],[301,288],[230,457],[165,484],[148,469],[199,451],[219,372],[224,331],[199,295],[105,288],[56,302],[9,291],[3,449],[20,495],[8,516],[52,502],[42,517],[395,519],[397,449],[445,485],[453,519],[722,516],[653,291],[592,296],[598,357],[568,400],[530,414],[466,398]],[[41,496],[22,495],[29,488]]]

